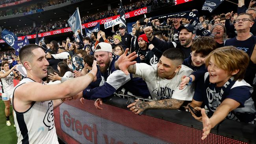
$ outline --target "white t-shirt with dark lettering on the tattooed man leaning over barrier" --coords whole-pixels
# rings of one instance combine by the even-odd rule
[[[186,85],[180,90],[179,85],[182,76],[189,76],[193,70],[182,65],[174,78],[160,78],[157,74],[157,65],[147,65],[145,63],[136,63],[136,73],[134,77],[142,78],[148,85],[148,90],[154,100],[163,100],[174,98],[177,100],[191,101],[195,92],[194,85]]]

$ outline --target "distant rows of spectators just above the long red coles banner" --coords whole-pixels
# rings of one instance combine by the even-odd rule
[[[146,7],[151,3],[152,3],[152,0],[140,0],[133,4],[125,5],[124,9],[125,9],[125,12],[133,11],[135,9]],[[81,22],[82,24],[84,24],[84,23],[92,22],[102,18],[112,17],[115,15],[118,15],[118,13],[119,13],[119,7],[111,9],[110,11],[103,11],[95,14],[85,15],[81,18]],[[83,15],[83,13],[80,13],[80,14]],[[47,31],[58,30],[58,29],[67,28],[67,27],[69,27],[67,20],[58,20],[58,21],[52,21],[49,23],[37,25],[35,26],[35,28],[33,28],[33,26],[30,26],[30,27],[19,28],[19,29],[15,28],[11,31],[13,31],[13,33],[17,37],[20,37],[24,35],[36,34],[36,32],[43,33]]]

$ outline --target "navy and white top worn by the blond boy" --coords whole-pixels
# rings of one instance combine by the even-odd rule
[[[223,87],[215,87],[216,84],[210,83],[209,72],[206,72],[204,78],[201,78],[198,83],[201,84],[201,89],[195,90],[194,100],[204,102],[212,115],[217,107],[221,105],[226,98],[233,99],[240,103],[239,107],[228,113],[227,119],[240,122],[251,122],[255,118],[256,110],[254,102],[251,98],[253,88],[246,83],[245,80],[235,81],[229,79]]]

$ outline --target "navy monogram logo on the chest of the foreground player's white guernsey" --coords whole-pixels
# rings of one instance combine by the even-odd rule
[[[48,110],[45,114],[44,124],[48,127],[48,131],[54,128],[54,113],[53,113],[53,102],[52,100],[48,103]]]

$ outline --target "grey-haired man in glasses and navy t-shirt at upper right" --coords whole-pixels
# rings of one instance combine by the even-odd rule
[[[239,14],[235,23],[237,37],[228,39],[225,42],[225,46],[236,46],[237,49],[243,50],[250,55],[256,43],[256,37],[250,34],[250,28],[253,24],[252,15],[248,13]]]

